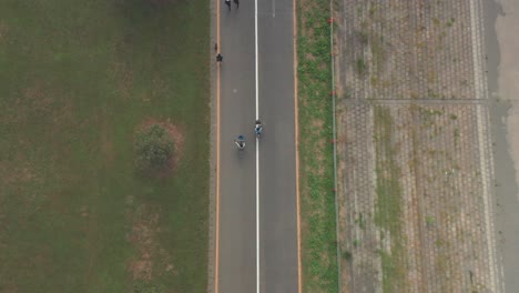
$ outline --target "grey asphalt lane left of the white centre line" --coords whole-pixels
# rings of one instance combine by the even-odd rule
[[[256,160],[254,7],[227,11],[221,3],[221,190],[220,290],[254,292],[256,286]],[[238,154],[233,140],[246,138]]]

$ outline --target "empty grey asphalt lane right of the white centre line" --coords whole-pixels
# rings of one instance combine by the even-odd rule
[[[273,6],[274,3],[274,6]],[[297,292],[292,0],[258,2],[262,292]]]

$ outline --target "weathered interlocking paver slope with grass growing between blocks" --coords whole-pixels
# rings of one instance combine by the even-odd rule
[[[343,0],[344,292],[501,292],[475,0]]]

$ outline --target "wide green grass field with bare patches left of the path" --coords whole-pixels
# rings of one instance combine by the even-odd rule
[[[208,4],[0,1],[0,292],[204,292]],[[173,174],[133,135],[177,127]]]

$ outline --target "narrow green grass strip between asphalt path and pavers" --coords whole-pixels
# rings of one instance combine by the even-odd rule
[[[337,292],[329,2],[297,1],[303,292]]]

